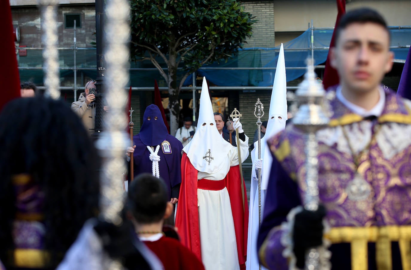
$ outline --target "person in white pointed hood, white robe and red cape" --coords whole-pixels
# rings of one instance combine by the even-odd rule
[[[248,157],[248,137],[235,119],[240,146],[224,140],[216,127],[222,129],[224,122],[220,115],[218,124],[213,117],[205,77],[200,104],[196,133],[183,148],[175,227],[205,269],[245,269],[248,204],[238,164]]]

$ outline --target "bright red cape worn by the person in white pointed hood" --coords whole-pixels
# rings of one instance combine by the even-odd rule
[[[186,153],[181,159],[181,186],[178,198],[175,227],[178,229],[181,242],[201,259],[199,209],[197,207],[197,173]],[[245,269],[247,259],[247,230],[248,230],[248,204],[244,179],[244,203],[241,198],[239,166],[230,167],[224,178],[229,192],[231,211],[233,212],[234,230],[236,231],[238,261],[241,268]]]

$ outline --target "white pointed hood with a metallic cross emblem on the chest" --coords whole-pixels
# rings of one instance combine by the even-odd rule
[[[222,160],[227,158],[232,147],[215,126],[207,81],[203,77],[196,133],[182,150],[196,170],[211,174],[222,169]]]

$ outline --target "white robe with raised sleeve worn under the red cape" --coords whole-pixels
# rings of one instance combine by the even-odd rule
[[[248,155],[248,137],[240,140],[241,160]],[[238,165],[237,147],[232,147],[224,159],[222,169],[208,174],[198,172],[197,179],[222,180],[230,166]],[[227,188],[219,191],[197,189],[199,204],[199,227],[201,242],[201,261],[205,270],[238,270],[237,242],[233,214]]]

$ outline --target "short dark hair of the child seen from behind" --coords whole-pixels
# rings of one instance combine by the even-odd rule
[[[169,201],[167,196],[163,180],[149,173],[143,173],[137,176],[130,185],[127,209],[137,222],[155,223],[164,217]]]

